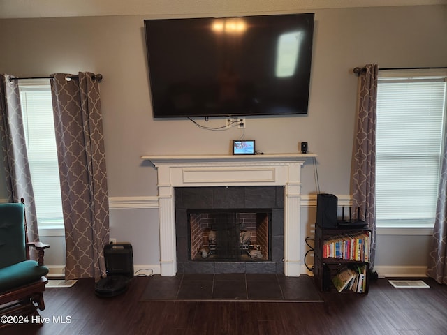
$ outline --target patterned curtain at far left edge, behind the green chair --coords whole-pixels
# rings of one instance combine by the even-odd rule
[[[36,205],[24,136],[20,92],[17,80],[10,80],[11,78],[10,75],[0,75],[0,135],[8,202],[20,202],[20,198],[24,198],[28,239],[38,241]],[[36,257],[34,253],[31,256]]]

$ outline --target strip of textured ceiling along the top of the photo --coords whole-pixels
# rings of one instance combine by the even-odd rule
[[[256,1],[256,6],[254,6]],[[447,0],[0,0],[0,18],[106,15],[235,15],[323,8],[419,6]],[[254,9],[256,8],[256,9]]]

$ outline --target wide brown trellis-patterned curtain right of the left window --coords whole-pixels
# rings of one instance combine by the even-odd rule
[[[105,276],[109,208],[98,82],[93,73],[56,74],[54,126],[66,237],[66,278]]]

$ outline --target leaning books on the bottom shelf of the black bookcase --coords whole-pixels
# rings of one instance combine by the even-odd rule
[[[352,290],[363,293],[366,290],[367,267],[365,265],[352,265],[344,267],[333,278],[332,283],[338,292]]]

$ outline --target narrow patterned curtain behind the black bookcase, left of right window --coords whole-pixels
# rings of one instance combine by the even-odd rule
[[[356,142],[353,154],[353,208],[360,208],[372,229],[371,267],[376,253],[376,98],[377,64],[368,64],[360,72],[360,94]]]

